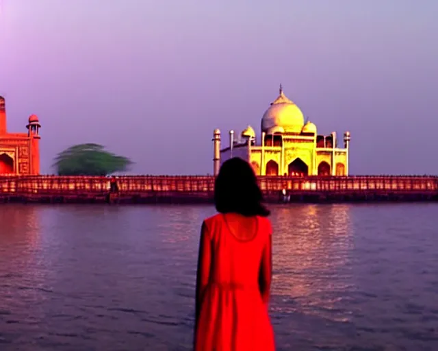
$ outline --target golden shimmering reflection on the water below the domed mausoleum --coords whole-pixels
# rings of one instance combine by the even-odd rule
[[[348,269],[353,236],[349,209],[305,205],[276,210],[273,293],[294,302],[284,304],[279,312],[321,316],[329,311],[327,318],[350,319],[351,311],[341,307],[345,304],[339,297],[353,289]],[[337,306],[339,313],[333,315]]]

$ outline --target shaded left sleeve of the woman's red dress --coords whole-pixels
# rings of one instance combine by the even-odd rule
[[[201,239],[199,241],[198,270],[196,274],[195,330],[198,324],[199,313],[201,312],[203,295],[209,281],[211,256],[211,239],[209,230],[204,221],[201,228]]]

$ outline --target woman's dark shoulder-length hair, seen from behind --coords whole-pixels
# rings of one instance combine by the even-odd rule
[[[242,158],[234,157],[220,167],[214,183],[214,203],[219,213],[239,213],[247,217],[268,217],[263,206],[263,194],[253,167]]]

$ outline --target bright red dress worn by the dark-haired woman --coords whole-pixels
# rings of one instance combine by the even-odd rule
[[[197,298],[196,351],[275,350],[268,301],[263,302],[259,288],[271,232],[266,217],[257,216],[255,236],[245,241],[231,233],[222,214],[204,221],[197,284],[204,289]]]

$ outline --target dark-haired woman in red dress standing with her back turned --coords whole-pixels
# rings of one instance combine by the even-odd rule
[[[196,351],[270,351],[270,214],[248,162],[231,158],[216,178],[217,215],[201,229],[196,279]]]

